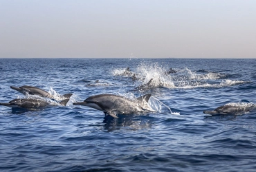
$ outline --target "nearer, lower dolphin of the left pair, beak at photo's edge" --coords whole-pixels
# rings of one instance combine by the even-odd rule
[[[60,105],[66,106],[66,103],[68,103],[69,99],[65,99],[60,101]],[[35,99],[35,98],[16,98],[14,100],[11,100],[9,103],[0,103],[0,105],[7,106],[7,107],[21,107],[26,109],[31,108],[40,108],[40,107],[46,107],[48,105],[54,105],[51,103],[48,103],[46,100],[43,99]]]

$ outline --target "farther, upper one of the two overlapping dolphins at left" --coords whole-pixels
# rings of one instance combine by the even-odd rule
[[[27,94],[30,94],[30,95],[36,95],[36,96],[41,96],[41,97],[45,97],[45,98],[53,98],[53,99],[55,99],[55,97],[52,94],[44,91],[44,89],[39,89],[37,87],[32,87],[32,86],[24,85],[24,86],[21,86],[21,87],[10,86],[10,88],[17,90],[18,92],[21,92],[25,96]],[[72,95],[73,94],[64,94],[63,95],[64,98],[58,98],[58,99],[63,100],[63,99],[66,99],[66,98],[70,98]]]

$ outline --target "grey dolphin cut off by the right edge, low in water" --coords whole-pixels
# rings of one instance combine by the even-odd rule
[[[214,109],[213,111],[203,111],[203,113],[210,114],[210,115],[238,115],[238,114],[248,113],[254,108],[255,107],[253,105],[239,106],[239,105],[227,104],[227,105],[217,107],[217,109]]]

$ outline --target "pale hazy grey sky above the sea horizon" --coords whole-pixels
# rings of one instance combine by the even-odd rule
[[[0,58],[256,58],[255,0],[0,0]]]

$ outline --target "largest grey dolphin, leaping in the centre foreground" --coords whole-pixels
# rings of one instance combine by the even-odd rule
[[[130,100],[123,96],[114,94],[99,94],[86,98],[83,102],[76,102],[73,105],[82,105],[104,111],[113,118],[118,118],[116,114],[138,114],[148,113],[154,110],[149,107],[148,100],[151,94],[140,96],[135,100]],[[156,111],[154,111],[156,112]]]

